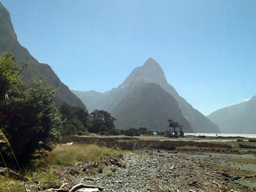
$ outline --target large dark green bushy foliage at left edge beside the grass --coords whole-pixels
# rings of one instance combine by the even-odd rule
[[[52,90],[45,80],[36,77],[27,85],[21,83],[18,79],[19,69],[15,67],[13,57],[11,60],[8,57],[0,57],[0,66],[11,66],[0,72],[0,79],[5,79],[5,85],[8,85],[0,89],[1,95],[8,93],[7,102],[3,101],[6,97],[1,97],[0,129],[10,142],[19,163],[24,165],[45,150],[51,150],[51,144],[60,138],[57,129],[62,120],[53,101],[57,91]],[[17,80],[13,81],[13,78]],[[1,85],[4,83],[1,82]],[[13,161],[8,153],[5,153],[5,159]]]

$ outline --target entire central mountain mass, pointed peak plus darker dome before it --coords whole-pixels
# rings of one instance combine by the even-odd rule
[[[184,124],[185,132],[220,133],[216,124],[179,96],[168,84],[161,66],[151,58],[143,66],[135,68],[118,88],[104,94],[95,91],[72,92],[81,98],[89,112],[103,109],[114,115],[121,129],[144,125],[151,130],[164,130],[167,123],[164,126],[160,121],[165,123],[173,118]],[[163,114],[168,117],[163,117]]]

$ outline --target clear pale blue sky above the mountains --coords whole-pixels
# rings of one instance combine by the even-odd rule
[[[109,91],[151,57],[204,115],[256,95],[254,0],[0,1],[69,89]]]

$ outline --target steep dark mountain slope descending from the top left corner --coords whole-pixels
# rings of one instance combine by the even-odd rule
[[[26,48],[19,44],[13,24],[11,24],[10,13],[0,2],[0,55],[3,56],[5,53],[16,56],[16,63],[19,67],[22,67],[26,57],[29,58],[28,66],[22,71],[22,81],[27,82],[33,76],[45,78],[53,88],[59,88],[56,103],[66,102],[71,106],[80,106],[86,109],[85,104],[60,81],[49,65],[39,63]]]

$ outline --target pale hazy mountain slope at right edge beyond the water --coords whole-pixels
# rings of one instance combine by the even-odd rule
[[[251,100],[216,110],[208,115],[222,133],[256,133],[256,96]]]

